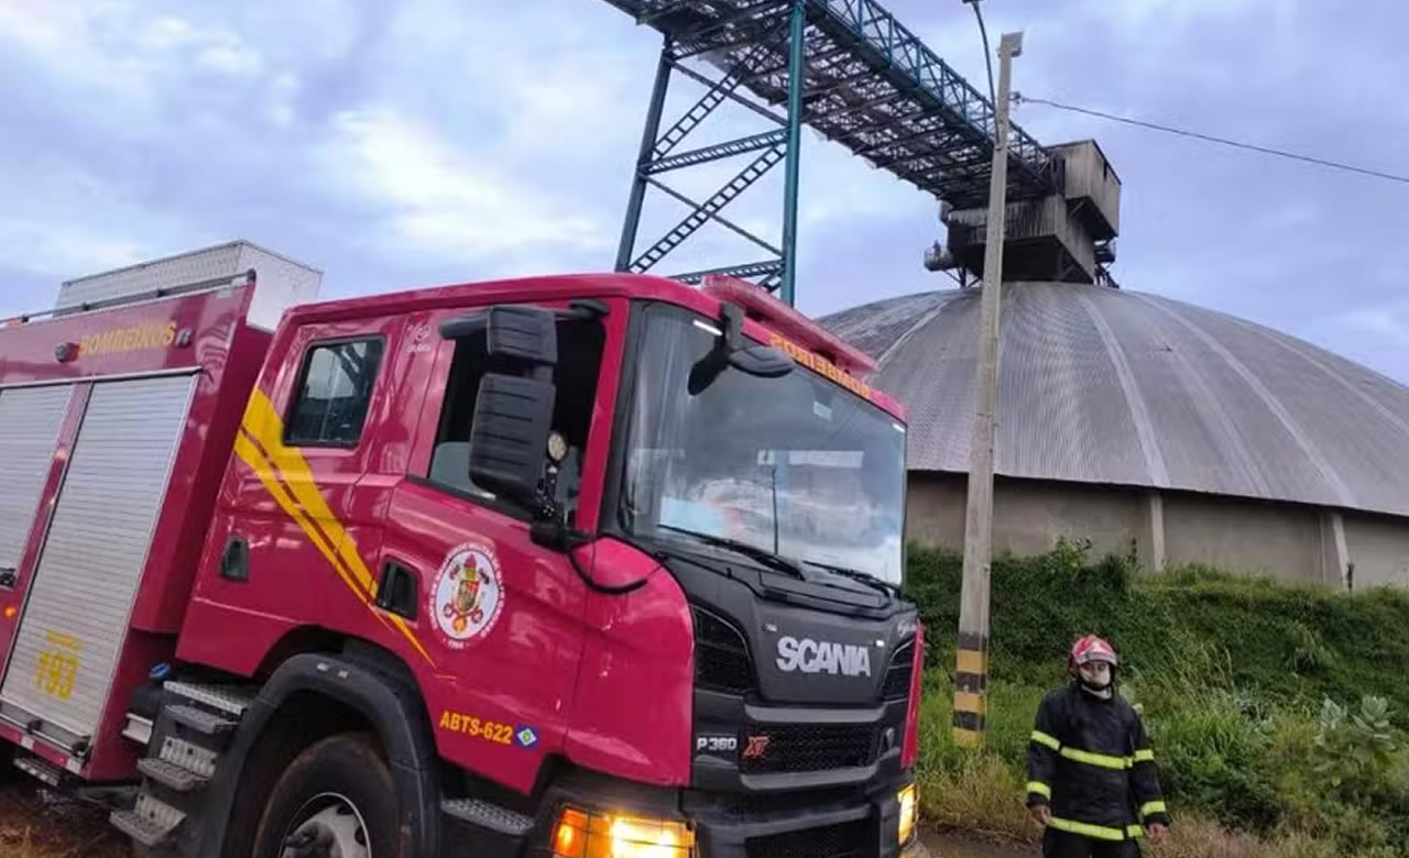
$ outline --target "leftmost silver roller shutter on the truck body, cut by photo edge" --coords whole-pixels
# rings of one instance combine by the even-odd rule
[[[0,571],[18,569],[73,389],[0,390]]]

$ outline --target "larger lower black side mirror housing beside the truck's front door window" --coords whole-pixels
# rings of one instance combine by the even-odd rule
[[[555,397],[551,382],[486,373],[469,433],[471,482],[517,503],[535,503]]]

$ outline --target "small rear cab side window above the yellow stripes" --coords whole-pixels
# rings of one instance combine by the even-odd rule
[[[285,444],[355,447],[382,363],[382,340],[345,340],[309,349],[289,409]]]

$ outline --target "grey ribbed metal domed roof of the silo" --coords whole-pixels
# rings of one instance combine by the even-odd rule
[[[978,290],[823,324],[909,409],[912,471],[965,472]],[[1102,286],[1005,286],[996,471],[1409,516],[1409,389],[1271,328]]]

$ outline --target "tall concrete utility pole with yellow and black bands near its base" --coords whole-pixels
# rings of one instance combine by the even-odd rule
[[[988,714],[988,602],[993,558],[993,423],[998,411],[999,303],[1003,294],[1003,221],[1007,210],[1007,93],[1023,34],[998,44],[998,103],[993,104],[993,178],[988,190],[988,244],[979,310],[974,440],[969,444],[968,510],[964,518],[964,589],[954,673],[954,740],[983,745]]]

